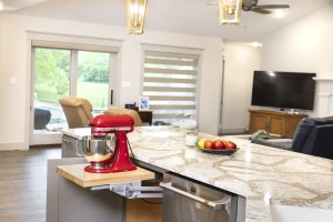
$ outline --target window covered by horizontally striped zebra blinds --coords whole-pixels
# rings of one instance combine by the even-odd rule
[[[145,51],[143,95],[154,122],[195,117],[198,61],[193,54]]]

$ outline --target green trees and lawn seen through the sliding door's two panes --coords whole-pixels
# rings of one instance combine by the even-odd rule
[[[69,94],[70,50],[36,49],[36,93],[43,102],[59,103]],[[93,107],[107,107],[109,53],[79,52],[78,94]],[[101,97],[104,97],[101,99]]]

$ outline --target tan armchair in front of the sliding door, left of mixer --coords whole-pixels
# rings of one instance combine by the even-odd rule
[[[75,97],[64,97],[59,100],[65,119],[68,121],[68,127],[72,128],[87,128],[88,120],[92,117],[92,105],[83,98]]]

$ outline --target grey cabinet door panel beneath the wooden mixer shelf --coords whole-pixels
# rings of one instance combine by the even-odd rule
[[[48,160],[47,222],[124,222],[123,196],[110,190],[81,188],[54,170],[71,164],[87,164],[87,160]]]

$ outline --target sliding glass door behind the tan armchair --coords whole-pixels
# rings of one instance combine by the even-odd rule
[[[88,99],[93,114],[113,102],[117,54],[67,49],[32,48],[30,144],[61,143],[67,120],[59,99]]]

